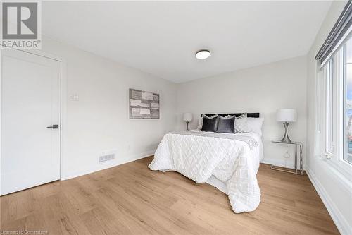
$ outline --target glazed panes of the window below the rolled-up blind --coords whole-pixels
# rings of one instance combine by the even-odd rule
[[[352,164],[352,37],[320,68],[323,152]]]

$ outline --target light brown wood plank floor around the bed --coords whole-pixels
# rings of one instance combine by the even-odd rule
[[[151,157],[0,198],[1,230],[49,234],[339,234],[307,176],[260,165],[261,203],[234,214],[227,195]]]

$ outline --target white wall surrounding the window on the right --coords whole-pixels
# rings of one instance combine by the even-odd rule
[[[352,234],[352,181],[342,176],[325,158],[314,153],[315,138],[315,54],[336,23],[346,1],[334,1],[307,56],[307,170],[341,234]]]

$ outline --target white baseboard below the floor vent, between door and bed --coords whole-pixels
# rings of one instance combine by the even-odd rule
[[[89,167],[86,167],[85,169],[81,169],[80,171],[75,171],[75,172],[69,172],[68,174],[64,174],[63,176],[61,176],[61,181],[63,180],[67,180],[67,179],[72,179],[72,178],[75,178],[75,177],[78,177],[78,176],[83,176],[85,174],[90,174],[90,173],[93,173],[93,172],[96,172],[96,171],[101,171],[103,169],[108,169],[108,168],[111,168],[111,167],[116,167],[120,164],[125,164],[127,162],[133,162],[135,160],[138,160],[138,159],[142,159],[144,157],[150,157],[151,155],[153,155],[155,152],[155,150],[151,150],[151,151],[148,151],[148,152],[142,152],[140,154],[137,154],[137,155],[130,155],[130,156],[127,156],[125,158],[122,158],[122,159],[115,159],[111,162],[106,162],[106,163],[103,163],[103,164],[96,164],[94,166],[89,166]]]

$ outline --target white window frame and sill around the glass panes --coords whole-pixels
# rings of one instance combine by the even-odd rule
[[[352,40],[352,32],[348,31],[348,35],[344,37],[344,40],[339,44],[339,46],[334,49],[333,53],[328,56],[328,58],[324,61],[323,64],[320,64],[318,61],[318,81],[317,81],[317,133],[320,134],[318,141],[320,144],[318,154],[320,157],[329,160],[332,167],[336,168],[341,174],[344,174],[351,179],[352,177],[352,163],[347,162],[344,159],[344,154],[346,154],[345,148],[345,76],[346,76],[346,66],[344,67],[344,61],[346,61],[346,53],[345,53],[345,44],[348,40]],[[333,61],[333,62],[330,62]],[[333,151],[329,149],[329,105],[327,102],[327,98],[329,95],[328,87],[327,87],[327,74],[325,74],[325,66],[334,66],[337,65],[336,68],[329,68],[330,74],[332,74],[332,85],[334,100],[333,100],[333,115],[332,115],[332,145]],[[326,69],[327,70],[327,69]],[[332,73],[331,73],[332,72]]]

